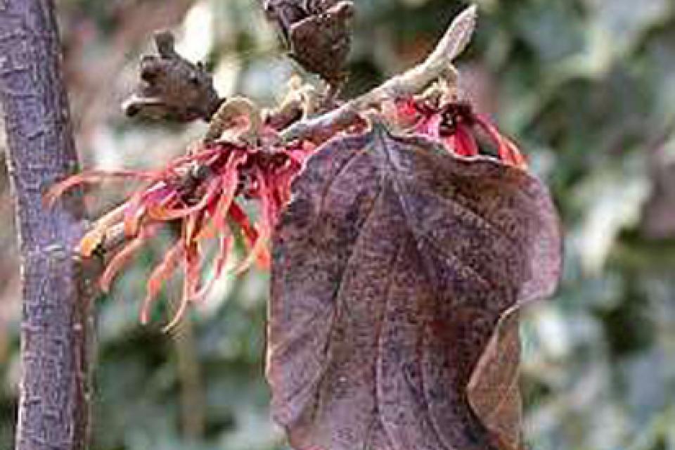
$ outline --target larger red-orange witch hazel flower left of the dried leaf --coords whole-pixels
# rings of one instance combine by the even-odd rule
[[[248,255],[240,262],[236,273],[245,271],[254,262],[262,267],[269,266],[266,243],[274,220],[289,200],[290,182],[314,146],[300,142],[281,143],[274,129],[259,122],[257,110],[250,108],[250,102],[230,105],[234,105],[233,108],[224,108],[214,119],[207,136],[219,135],[218,129],[227,128],[235,131],[231,139],[198,143],[188,155],[176,158],[154,172],[84,172],[57,184],[47,195],[47,200],[53,201],[69,188],[102,179],[140,179],[145,182],[145,187],[98,219],[79,244],[79,254],[90,257],[107,240],[120,240],[120,237],[125,240],[101,276],[103,291],[108,290],[118,271],[148,238],[163,225],[180,224],[180,238],[148,279],[147,295],[141,308],[143,323],[148,321],[150,306],[162,285],[179,268],[184,272],[184,290],[167,329],[176,325],[189,302],[203,299],[224,271],[236,231],[240,231],[248,246]],[[242,110],[242,105],[249,110]],[[238,196],[258,200],[259,217],[255,223],[237,203]],[[214,276],[202,283],[203,246],[212,238],[219,242]]]

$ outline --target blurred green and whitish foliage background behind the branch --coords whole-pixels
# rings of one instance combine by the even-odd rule
[[[355,2],[346,94],[423,58],[465,6]],[[139,56],[154,53],[153,30],[174,30],[179,51],[207,63],[221,96],[271,105],[299,70],[257,0],[57,3],[84,167],[157,167],[204,132],[205,124],[123,117]],[[675,4],[477,3],[477,34],[460,61],[463,84],[551,186],[565,229],[560,290],[522,321],[527,443],[675,450]],[[94,214],[120,200],[115,193],[120,186],[92,191]],[[0,195],[0,448],[9,449],[20,299],[4,172]],[[167,335],[160,332],[166,311],[150,326],[137,320],[161,251],[160,238],[98,301],[92,448],[284,449],[264,383],[267,275],[225,279]],[[168,300],[178,295],[167,291]]]

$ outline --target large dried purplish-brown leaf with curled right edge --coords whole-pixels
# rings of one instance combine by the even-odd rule
[[[517,328],[498,323],[559,271],[555,211],[527,172],[379,124],[330,141],[274,236],[274,418],[295,449],[509,449],[515,394],[484,383],[518,362]]]

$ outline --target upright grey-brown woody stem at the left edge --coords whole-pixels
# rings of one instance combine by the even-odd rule
[[[51,0],[0,0],[0,99],[21,252],[22,378],[17,450],[84,449],[89,429],[89,304],[70,249],[83,205],[42,193],[77,168]]]

